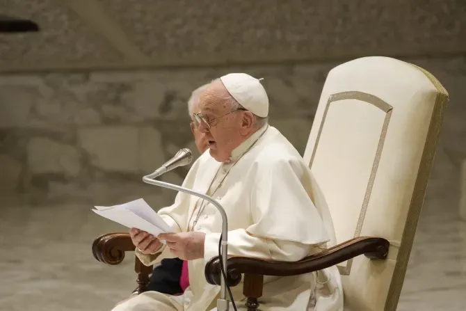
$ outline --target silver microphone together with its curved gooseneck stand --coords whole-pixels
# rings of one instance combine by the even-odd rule
[[[210,202],[214,207],[218,209],[218,212],[220,212],[220,216],[222,216],[222,234],[220,235],[220,244],[221,244],[221,249],[222,249],[222,274],[220,278],[220,298],[217,299],[217,310],[218,311],[228,311],[229,310],[229,302],[227,299],[227,282],[226,282],[226,271],[227,271],[227,254],[228,254],[228,219],[227,219],[227,213],[225,213],[225,209],[223,209],[222,205],[215,200],[214,198],[211,198],[210,196],[207,196],[207,194],[194,191],[193,189],[188,189],[183,186],[177,186],[176,184],[169,184],[168,182],[161,182],[160,180],[155,180],[155,177],[158,177],[162,175],[163,173],[168,172],[169,170],[172,170],[174,168],[177,168],[178,166],[185,166],[187,164],[191,163],[193,156],[191,154],[191,150],[189,149],[182,149],[175,154],[175,157],[172,157],[172,159],[166,161],[163,166],[160,168],[157,168],[154,173],[150,175],[146,175],[143,177],[143,182],[146,184],[152,184],[153,186],[161,186],[162,188],[167,188],[175,191],[181,191],[184,193],[188,193],[191,196],[196,196],[198,198],[202,198],[204,200],[207,200],[207,202]],[[219,254],[220,255],[220,254]],[[228,289],[229,290],[229,289]],[[233,298],[232,298],[233,299]],[[234,307],[236,310],[236,307]]]

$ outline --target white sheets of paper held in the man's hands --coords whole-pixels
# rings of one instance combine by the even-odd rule
[[[120,223],[127,228],[137,228],[157,237],[161,233],[172,232],[171,228],[144,199],[110,207],[95,206],[93,212]]]

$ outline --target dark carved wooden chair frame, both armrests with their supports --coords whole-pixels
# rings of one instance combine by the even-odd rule
[[[323,250],[299,262],[267,262],[247,257],[230,257],[227,265],[227,284],[239,285],[244,274],[243,294],[246,296],[248,311],[259,307],[258,299],[262,296],[264,276],[297,276],[326,269],[335,264],[346,262],[353,257],[365,255],[371,260],[385,260],[389,242],[379,237],[357,237],[342,244]],[[128,233],[109,233],[97,237],[93,243],[93,255],[105,264],[120,264],[125,252],[135,249]],[[134,294],[147,291],[152,266],[145,266],[136,257],[134,271],[138,278]],[[205,267],[205,277],[212,285],[220,285],[220,259],[212,258]]]

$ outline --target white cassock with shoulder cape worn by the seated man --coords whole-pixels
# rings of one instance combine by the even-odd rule
[[[236,147],[227,162],[219,163],[204,152],[189,170],[183,186],[208,193],[224,207],[229,255],[296,262],[321,251],[332,240],[328,211],[316,208],[307,191],[311,181],[310,170],[293,145],[280,131],[266,125]],[[188,262],[190,286],[186,292],[181,296],[145,292],[114,311],[216,308],[220,287],[207,283],[204,267],[218,256],[222,220],[216,207],[207,203],[178,193],[172,206],[159,210],[174,232],[206,234],[204,258]],[[173,257],[168,248],[155,255],[136,250],[136,255],[146,265]],[[236,307],[245,310],[243,283],[231,289]],[[342,311],[338,270],[332,266],[302,276],[265,276],[259,303],[259,310]]]

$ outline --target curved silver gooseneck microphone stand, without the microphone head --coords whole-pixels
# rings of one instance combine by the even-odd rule
[[[220,212],[220,215],[222,216],[222,262],[223,262],[223,269],[225,269],[225,276],[227,274],[227,234],[228,234],[228,221],[227,221],[227,214],[225,213],[225,209],[223,209],[222,205],[220,205],[219,202],[214,200],[213,198],[207,196],[204,193],[200,193],[197,191],[193,191],[188,188],[184,188],[182,186],[177,186],[175,184],[169,184],[168,182],[161,182],[159,180],[154,180],[155,177],[158,177],[160,172],[156,170],[154,173],[150,175],[146,175],[143,177],[143,182],[147,184],[152,184],[154,186],[161,186],[163,188],[168,188],[176,191],[182,191],[184,193],[191,194],[191,196],[197,196],[198,198],[202,198],[204,200],[207,200],[212,203],[217,209],[218,212]],[[227,301],[227,286],[226,286],[226,280],[223,277],[223,273],[221,274],[220,278],[220,299],[217,300],[217,310],[218,311],[228,311],[230,308],[230,303]]]

